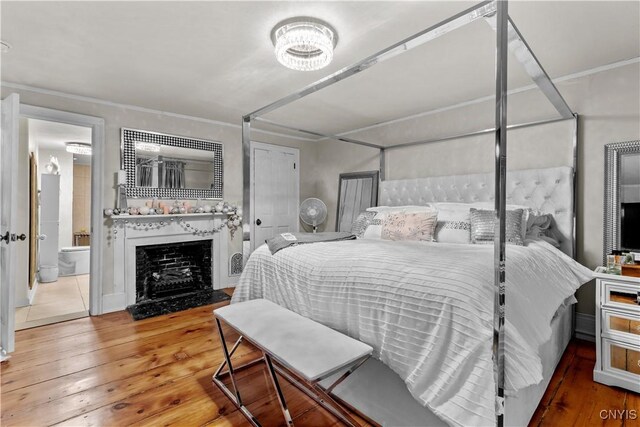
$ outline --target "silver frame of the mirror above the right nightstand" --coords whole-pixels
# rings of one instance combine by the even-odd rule
[[[620,246],[620,185],[622,156],[640,153],[640,141],[615,142],[604,146],[604,251],[607,254]]]

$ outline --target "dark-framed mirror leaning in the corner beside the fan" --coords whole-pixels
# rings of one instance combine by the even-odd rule
[[[341,173],[336,231],[351,231],[360,212],[378,205],[378,171]]]

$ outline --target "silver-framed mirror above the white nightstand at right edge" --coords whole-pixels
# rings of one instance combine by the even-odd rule
[[[605,145],[604,256],[640,252],[640,141]]]

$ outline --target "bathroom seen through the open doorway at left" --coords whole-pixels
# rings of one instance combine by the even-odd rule
[[[21,118],[18,163],[18,216],[29,244],[18,254],[16,329],[86,317],[91,128]]]

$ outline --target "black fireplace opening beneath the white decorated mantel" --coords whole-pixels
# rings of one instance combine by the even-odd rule
[[[211,272],[211,240],[138,246],[136,303],[211,288]]]

